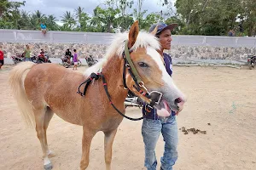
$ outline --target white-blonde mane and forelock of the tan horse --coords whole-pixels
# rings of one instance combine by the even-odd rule
[[[125,51],[125,41],[128,40],[129,32],[119,33],[113,37],[113,41],[108,48],[107,54],[104,58],[98,62],[96,65],[91,66],[84,72],[84,76],[90,76],[92,72],[99,72],[101,71],[102,67],[107,63],[108,59],[113,56],[122,57],[123,52]],[[131,50],[136,51],[137,48],[154,48],[156,50],[160,49],[160,43],[154,35],[140,31],[136,42],[132,46]]]

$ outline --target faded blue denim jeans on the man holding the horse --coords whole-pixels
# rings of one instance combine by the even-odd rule
[[[160,120],[143,120],[143,141],[145,144],[145,162],[144,166],[148,170],[156,170],[156,157],[154,153],[155,145],[159,139],[160,133],[166,142],[164,155],[161,157],[161,168],[163,170],[172,170],[172,166],[177,161],[177,122],[176,116],[166,117]]]

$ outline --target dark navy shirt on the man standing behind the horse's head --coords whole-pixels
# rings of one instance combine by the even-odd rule
[[[166,64],[166,71],[172,77],[172,58],[170,55],[164,53],[164,60]],[[147,114],[146,114],[147,113]],[[175,116],[175,111],[172,111],[172,116]],[[143,116],[148,119],[158,119],[158,115],[156,114],[156,109],[151,110],[151,112],[145,111],[145,105],[143,105]]]

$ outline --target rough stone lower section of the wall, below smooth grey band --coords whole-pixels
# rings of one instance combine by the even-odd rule
[[[49,54],[50,58],[60,58],[65,54],[67,48],[73,51],[76,48],[79,56],[84,58],[91,54],[96,59],[101,59],[107,48],[107,44],[82,44],[82,43],[29,43],[32,47],[32,55],[37,55],[41,48]],[[21,54],[26,43],[0,42],[0,48],[6,57]],[[247,47],[209,47],[209,46],[181,46],[172,45],[172,50],[166,53],[172,54],[175,59],[247,59],[248,54],[256,54],[256,48]]]

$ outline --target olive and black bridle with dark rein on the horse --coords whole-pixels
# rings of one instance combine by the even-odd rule
[[[145,110],[149,113],[151,112],[151,110],[153,109],[153,106],[155,104],[159,104],[160,103],[160,99],[162,98],[162,93],[160,92],[157,92],[157,91],[152,91],[151,93],[148,93],[148,89],[145,88],[144,86],[144,82],[142,81],[141,77],[139,76],[132,60],[131,60],[131,54],[132,53],[132,50],[128,48],[128,40],[125,41],[125,51],[123,53],[123,59],[125,60],[124,62],[124,70],[123,70],[123,84],[124,84],[124,88],[125,89],[128,89],[130,92],[131,90],[127,87],[127,84],[126,84],[126,79],[125,79],[125,75],[126,75],[126,68],[129,72],[129,74],[131,75],[133,81],[135,82],[136,85],[133,85],[133,87],[137,90],[138,93],[142,94],[144,97],[150,99],[150,103],[149,105],[146,105],[146,108]],[[111,96],[110,94],[108,93],[108,86],[107,86],[107,82],[106,82],[106,79],[104,77],[104,75],[101,73],[91,73],[90,77],[85,80],[84,82],[82,82],[80,85],[79,85],[79,90],[78,90],[78,94],[80,94],[81,96],[84,96],[85,93],[86,93],[86,90],[88,88],[88,86],[90,85],[90,82],[92,82],[92,80],[98,80],[100,77],[102,77],[102,82],[103,82],[103,87],[105,89],[105,92],[108,96],[108,100],[109,100],[109,104],[113,106],[113,109],[115,111],[117,111],[121,116],[124,116],[126,119],[129,119],[131,121],[139,121],[139,120],[142,120],[143,119],[143,116],[142,117],[139,117],[139,118],[131,118],[129,116],[125,116],[125,114],[123,114],[121,111],[119,111],[115,105],[113,105],[113,102],[111,100]],[[81,86],[85,84],[84,86],[84,92],[82,93],[80,91],[80,88]],[[144,92],[142,90],[142,88],[146,91]]]

